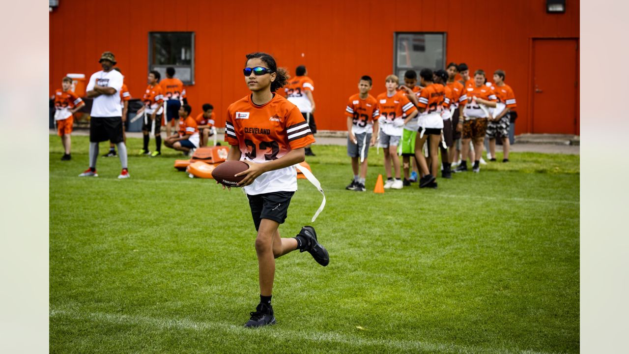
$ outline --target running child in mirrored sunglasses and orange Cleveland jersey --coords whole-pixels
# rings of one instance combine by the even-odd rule
[[[315,142],[299,108],[277,94],[288,74],[278,69],[266,53],[247,54],[245,83],[251,94],[227,108],[225,141],[230,144],[228,161],[244,161],[247,171],[238,183],[247,193],[253,224],[257,230],[260,304],[245,327],[275,324],[271,294],[275,278],[275,258],[299,249],[308,251],[323,266],[330,261],[328,251],[317,242],[315,229],[304,226],[296,237],[281,238],[278,228],[286,220],[292,195],[297,190],[294,164],[305,159],[304,147]]]

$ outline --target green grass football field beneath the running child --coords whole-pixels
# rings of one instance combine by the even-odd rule
[[[175,171],[169,149],[136,156],[140,139],[129,180],[117,157],[78,178],[88,141],[72,139],[59,161],[50,136],[50,353],[579,351],[579,156],[513,153],[438,190],[376,195],[382,151],[357,193],[345,147],[313,147],[330,265],[279,258],[277,325],[245,329],[259,288],[242,191]],[[320,202],[299,180],[282,236]]]

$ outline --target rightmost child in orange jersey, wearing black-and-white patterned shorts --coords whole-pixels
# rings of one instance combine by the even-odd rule
[[[494,90],[499,102],[505,105],[496,118],[491,117],[487,123],[487,138],[489,138],[489,152],[491,161],[496,161],[496,137],[500,137],[503,142],[503,163],[509,161],[509,125],[511,124],[511,114],[516,108],[515,94],[511,86],[504,83],[504,71],[494,72]]]

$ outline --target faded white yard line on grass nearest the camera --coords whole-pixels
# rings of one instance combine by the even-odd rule
[[[183,329],[194,331],[223,331],[238,336],[251,336],[259,338],[264,335],[276,338],[277,340],[285,340],[286,338],[300,338],[314,342],[331,342],[340,343],[349,346],[381,346],[391,348],[393,350],[403,351],[449,351],[456,353],[496,353],[496,354],[553,354],[543,351],[531,350],[514,350],[508,348],[483,348],[478,346],[462,346],[443,343],[428,343],[423,341],[404,341],[404,340],[379,340],[366,339],[355,336],[348,336],[334,332],[326,333],[304,333],[303,330],[291,331],[284,328],[268,328],[268,331],[256,331],[245,329],[235,324],[227,324],[220,322],[196,322],[189,319],[160,319],[145,316],[128,316],[125,314],[107,314],[103,312],[84,313],[73,309],[51,309],[50,318],[53,317],[70,317],[72,319],[89,320],[102,323],[113,324],[132,324],[152,326],[158,329]],[[350,325],[348,325],[350,326]]]

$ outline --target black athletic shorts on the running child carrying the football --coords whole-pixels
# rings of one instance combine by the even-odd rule
[[[284,223],[288,215],[288,205],[291,203],[294,191],[274,191],[257,195],[247,195],[249,207],[253,217],[255,230],[260,228],[262,219],[269,219]]]

